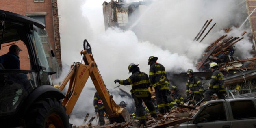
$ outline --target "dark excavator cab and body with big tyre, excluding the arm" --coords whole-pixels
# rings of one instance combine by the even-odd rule
[[[37,20],[0,10],[1,128],[69,126],[65,107],[59,102],[65,95],[53,87],[52,77],[56,77],[59,66],[44,29]],[[12,45],[22,51],[10,55]],[[46,109],[49,105],[52,108]],[[51,113],[56,106],[60,111]],[[42,112],[45,114],[39,117]]]

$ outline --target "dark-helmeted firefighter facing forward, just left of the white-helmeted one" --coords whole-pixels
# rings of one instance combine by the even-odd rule
[[[192,69],[188,69],[187,75],[189,76],[187,83],[186,83],[186,94],[187,94],[187,99],[189,97],[189,94],[191,94],[195,102],[199,102],[202,100],[202,83],[199,78],[195,77],[193,75],[194,71]],[[191,91],[191,93],[190,93]]]

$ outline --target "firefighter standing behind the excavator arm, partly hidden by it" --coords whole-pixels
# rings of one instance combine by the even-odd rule
[[[105,119],[104,119],[105,107],[104,107],[104,105],[102,103],[102,99],[100,98],[100,95],[98,95],[97,91],[94,94],[93,105],[95,108],[95,112],[98,113],[98,115],[99,115],[100,125],[104,125],[105,124]]]

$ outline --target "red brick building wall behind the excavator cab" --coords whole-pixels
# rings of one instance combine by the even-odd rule
[[[56,59],[61,67],[61,46],[57,0],[44,0],[44,2],[34,2],[34,0],[1,0],[0,9],[21,15],[25,15],[26,13],[45,12],[47,14],[45,15],[46,31],[48,32],[51,46],[53,50],[55,50]],[[5,52],[8,52],[8,50],[1,50],[0,55]],[[29,68],[29,65],[23,66],[23,69]]]

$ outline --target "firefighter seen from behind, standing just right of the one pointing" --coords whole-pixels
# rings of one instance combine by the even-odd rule
[[[150,65],[149,79],[150,90],[155,89],[157,107],[160,113],[169,112],[169,102],[167,101],[167,90],[169,89],[169,80],[167,79],[165,67],[157,63],[158,57],[150,56],[148,65]]]

